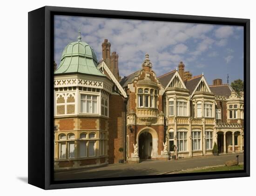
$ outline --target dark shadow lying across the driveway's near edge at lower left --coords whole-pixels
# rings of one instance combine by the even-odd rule
[[[121,170],[104,170],[104,171],[63,171],[54,173],[54,179],[59,180],[77,180],[77,179],[94,179],[108,177],[131,177],[156,175],[159,171],[153,169],[121,169]]]

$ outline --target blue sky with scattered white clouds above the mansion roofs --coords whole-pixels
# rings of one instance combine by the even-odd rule
[[[60,62],[65,46],[77,40],[91,45],[101,60],[101,43],[111,43],[119,55],[121,76],[141,69],[148,52],[153,70],[161,76],[174,70],[180,61],[193,76],[202,74],[210,84],[215,78],[223,83],[243,80],[243,27],[193,23],[158,22],[127,19],[55,16],[54,59]]]

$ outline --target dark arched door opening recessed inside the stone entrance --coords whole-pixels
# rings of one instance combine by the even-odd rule
[[[152,157],[152,135],[148,132],[143,132],[139,136],[139,157],[140,159]]]

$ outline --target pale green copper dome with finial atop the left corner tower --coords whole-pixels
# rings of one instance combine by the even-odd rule
[[[61,56],[61,62],[54,74],[84,73],[105,76],[96,68],[97,58],[93,48],[81,41],[79,30],[78,41],[68,44]]]

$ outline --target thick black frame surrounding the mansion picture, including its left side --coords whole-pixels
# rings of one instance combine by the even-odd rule
[[[54,15],[142,19],[244,27],[244,170],[144,177],[54,181]],[[28,13],[28,183],[42,189],[63,189],[137,183],[159,183],[250,175],[250,20],[162,13],[142,13],[44,6]]]

